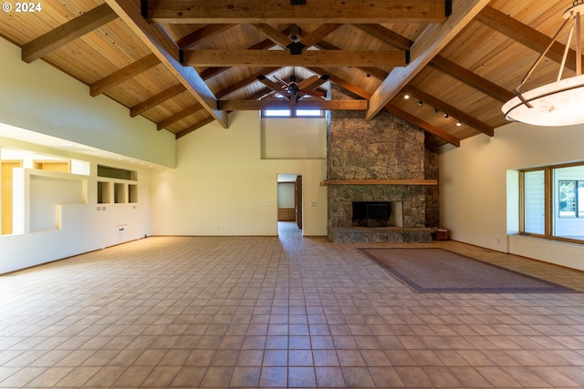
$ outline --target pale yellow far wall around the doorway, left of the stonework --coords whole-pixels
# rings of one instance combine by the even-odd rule
[[[178,139],[176,169],[152,172],[152,233],[275,236],[277,174],[293,172],[303,179],[303,234],[325,236],[326,159],[261,159],[259,114],[234,112],[229,123]]]

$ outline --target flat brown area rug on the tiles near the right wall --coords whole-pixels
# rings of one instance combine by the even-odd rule
[[[359,249],[415,292],[559,293],[572,289],[443,249]]]

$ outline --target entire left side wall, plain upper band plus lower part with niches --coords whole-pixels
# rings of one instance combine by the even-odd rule
[[[63,204],[49,204],[48,198],[38,193],[46,190],[45,187],[36,190],[31,199],[30,189],[38,189],[34,183],[31,186],[32,170],[17,172],[16,178],[20,180],[21,189],[24,188],[24,196],[16,201],[18,233],[0,235],[0,273],[150,235],[150,169],[147,164],[131,164],[128,159],[173,167],[174,136],[168,131],[156,131],[149,120],[130,118],[127,108],[108,97],[90,97],[88,86],[46,62],[36,60],[26,64],[20,56],[17,46],[0,38],[0,148],[87,160],[91,171],[87,179],[81,178],[76,184],[81,185],[85,202],[76,199],[75,204],[67,203],[67,199]],[[26,140],[30,136],[32,138]],[[57,138],[75,142],[75,145],[57,149],[47,144],[49,139],[53,142]],[[103,154],[108,157],[98,157],[101,152],[78,154],[73,150],[80,148],[79,145],[105,150]],[[126,161],[118,160],[119,156]],[[138,171],[137,204],[108,204],[105,210],[97,204],[99,163]],[[36,178],[51,175],[33,174]],[[69,181],[70,178],[63,180],[67,183],[65,186]],[[58,182],[59,179],[51,181],[56,185]],[[43,221],[37,226],[36,217],[30,216],[31,201],[38,215],[54,215],[54,220],[48,224]],[[124,225],[123,230],[120,225]]]

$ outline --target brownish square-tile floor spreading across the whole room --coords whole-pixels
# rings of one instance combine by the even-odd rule
[[[282,227],[0,276],[0,387],[584,387],[584,293],[418,294],[356,251],[382,244]],[[584,291],[581,271],[430,245]]]

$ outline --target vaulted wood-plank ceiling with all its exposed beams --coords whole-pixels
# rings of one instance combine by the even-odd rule
[[[176,138],[214,120],[227,128],[228,110],[295,104],[362,109],[368,119],[384,109],[435,145],[460,146],[506,123],[501,106],[571,3],[43,0],[34,12],[0,14],[0,36],[23,61],[46,61]],[[296,55],[294,36],[306,46]],[[563,49],[552,47],[526,87],[555,80]],[[575,55],[568,68],[573,75]],[[258,76],[293,75],[326,76],[320,88],[336,84],[358,101],[258,99],[271,92]]]

